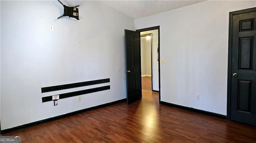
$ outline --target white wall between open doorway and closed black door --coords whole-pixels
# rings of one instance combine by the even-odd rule
[[[226,115],[229,12],[255,6],[205,1],[134,20],[135,29],[160,25],[161,101]]]

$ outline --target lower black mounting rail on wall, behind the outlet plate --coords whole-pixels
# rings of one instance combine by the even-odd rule
[[[72,96],[78,96],[78,95],[82,95],[82,94],[88,94],[88,93],[93,93],[93,92],[98,92],[98,91],[103,91],[103,90],[108,90],[108,89],[110,89],[110,85],[97,87],[97,88],[90,88],[90,89],[80,90],[80,91],[75,91],[75,92],[68,92],[68,93],[63,93],[63,94],[58,94],[58,95],[59,95],[60,99],[63,99],[63,98],[68,98],[68,97],[72,97]],[[48,102],[48,101],[52,101],[52,96],[42,97],[42,102]]]

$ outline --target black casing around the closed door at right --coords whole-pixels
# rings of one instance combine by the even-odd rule
[[[229,13],[229,33],[228,33],[228,91],[227,91],[227,119],[231,119],[231,76],[232,76],[232,21],[233,16],[238,14],[256,12],[256,8],[248,8]]]

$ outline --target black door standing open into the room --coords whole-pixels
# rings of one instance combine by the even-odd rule
[[[126,52],[127,104],[142,98],[140,32],[124,30]]]

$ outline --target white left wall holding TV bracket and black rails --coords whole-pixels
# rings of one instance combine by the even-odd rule
[[[99,1],[1,1],[1,129],[126,98],[124,29],[134,20]],[[54,31],[50,31],[54,25]],[[117,72],[120,69],[120,72]],[[41,87],[110,78],[110,83],[41,93]],[[42,103],[51,96],[110,84],[110,90]]]

